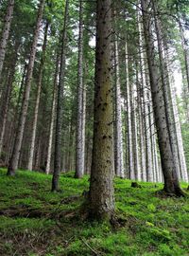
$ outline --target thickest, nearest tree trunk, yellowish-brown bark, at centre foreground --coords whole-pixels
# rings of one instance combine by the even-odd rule
[[[96,22],[94,148],[89,216],[110,219],[114,212],[111,0],[97,0]]]

